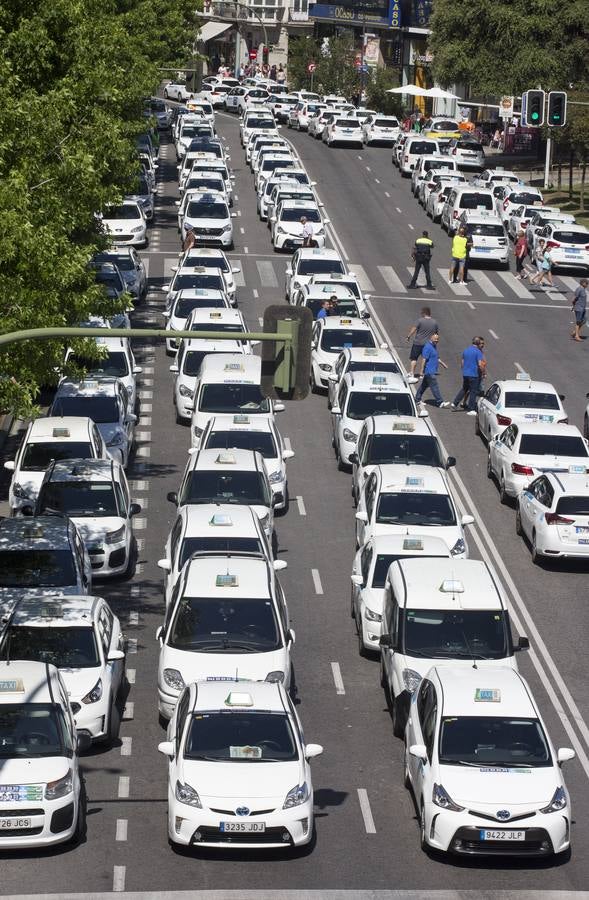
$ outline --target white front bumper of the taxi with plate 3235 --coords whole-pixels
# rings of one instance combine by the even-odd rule
[[[228,802],[231,805],[231,801]],[[294,809],[277,809],[259,816],[249,816],[247,822],[263,822],[265,830],[254,834],[220,830],[221,822],[244,824],[239,816],[223,815],[209,809],[194,809],[176,799],[169,805],[168,834],[177,844],[223,847],[224,849],[263,849],[300,847],[313,834],[313,805],[310,800]]]

